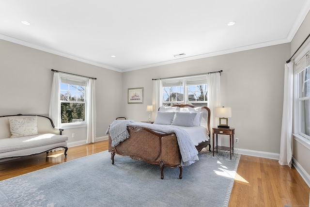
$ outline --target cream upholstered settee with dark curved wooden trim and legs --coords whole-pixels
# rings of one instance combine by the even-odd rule
[[[66,157],[68,136],[62,131],[46,116],[0,116],[0,159],[48,153],[56,148],[64,148]]]

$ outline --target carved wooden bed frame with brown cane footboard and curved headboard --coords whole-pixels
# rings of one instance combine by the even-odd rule
[[[192,105],[173,105],[180,108],[195,108]],[[210,138],[210,109],[202,107],[202,126],[207,127]],[[111,137],[109,135],[109,152],[111,152],[112,164],[114,164],[115,154],[120,156],[129,156],[132,159],[143,160],[151,164],[160,166],[161,179],[164,179],[164,167],[171,168],[179,167],[182,179],[183,167],[181,166],[181,154],[176,135],[172,134],[159,134],[148,128],[128,126],[129,138],[119,145],[111,146]],[[198,152],[202,148],[209,145],[211,151],[210,140],[199,143],[196,146]]]

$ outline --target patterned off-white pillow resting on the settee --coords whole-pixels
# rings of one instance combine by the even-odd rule
[[[38,134],[37,116],[27,118],[8,117],[11,138],[24,137]]]

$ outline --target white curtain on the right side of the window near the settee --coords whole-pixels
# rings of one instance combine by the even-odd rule
[[[95,80],[89,79],[87,87],[87,140],[86,143],[96,141],[96,90]]]

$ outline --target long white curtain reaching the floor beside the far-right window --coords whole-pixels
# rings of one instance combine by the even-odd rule
[[[280,140],[280,165],[292,167],[294,63],[284,66],[284,97]]]

